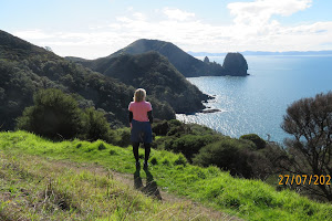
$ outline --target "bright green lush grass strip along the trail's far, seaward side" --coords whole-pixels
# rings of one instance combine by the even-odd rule
[[[24,131],[0,133],[0,149],[73,162],[93,162],[120,172],[134,173],[132,148],[101,140],[52,143]],[[143,155],[143,149],[141,155]],[[258,180],[232,178],[216,167],[200,168],[184,156],[152,150],[149,171],[163,189],[186,196],[217,210],[248,220],[331,220],[332,207],[289,190],[276,191]]]

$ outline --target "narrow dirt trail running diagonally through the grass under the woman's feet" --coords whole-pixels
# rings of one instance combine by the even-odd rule
[[[191,208],[191,210],[195,211],[195,213],[199,213],[203,215],[208,214],[208,217],[211,220],[225,220],[225,221],[242,220],[240,218],[232,217],[227,213],[214,210],[212,208],[204,207],[200,203],[195,202],[193,200],[175,196],[167,191],[163,191],[162,188],[156,186],[155,181],[149,182],[148,172],[146,172],[147,179],[142,179],[141,177],[137,177],[137,170],[134,175],[131,175],[131,173],[122,173],[122,172],[117,172],[114,170],[110,170],[110,169],[106,169],[98,165],[76,164],[76,162],[64,161],[64,160],[52,160],[52,161],[53,161],[53,164],[56,164],[59,166],[65,166],[71,169],[74,169],[77,172],[83,171],[83,170],[89,170],[90,172],[98,175],[98,176],[110,176],[110,172],[111,172],[111,176],[113,177],[114,180],[116,180],[121,183],[124,183],[132,189],[142,191],[149,197],[160,200],[162,202],[184,203],[186,206],[189,206],[189,208]],[[141,169],[139,172],[143,173],[145,171],[143,169]]]

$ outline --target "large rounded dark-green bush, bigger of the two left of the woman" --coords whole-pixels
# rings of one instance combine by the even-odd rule
[[[41,90],[33,96],[34,106],[18,118],[18,128],[49,138],[73,138],[84,128],[77,102],[60,90]]]

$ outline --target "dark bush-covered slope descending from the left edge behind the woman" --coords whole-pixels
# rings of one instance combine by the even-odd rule
[[[134,87],[66,61],[0,30],[0,127],[13,129],[15,118],[33,103],[40,88],[75,94],[82,107],[104,110],[113,124],[126,124]],[[167,103],[151,101],[155,117],[174,118]]]

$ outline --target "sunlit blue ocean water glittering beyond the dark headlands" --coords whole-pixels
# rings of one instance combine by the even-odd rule
[[[245,56],[249,76],[188,77],[216,98],[206,106],[221,112],[178,114],[177,119],[197,123],[231,137],[257,134],[282,143],[280,125],[289,105],[303,97],[332,91],[332,55],[325,56]],[[198,57],[203,59],[203,57]],[[222,64],[224,57],[209,57]]]

